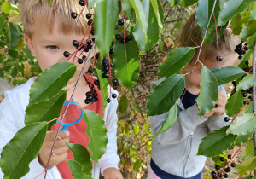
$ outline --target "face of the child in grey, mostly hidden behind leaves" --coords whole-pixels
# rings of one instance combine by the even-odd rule
[[[216,62],[215,62],[216,61]],[[223,61],[221,61],[220,63],[218,63],[217,60],[215,60],[214,63],[208,62],[208,61],[204,61],[203,64],[204,66],[207,66],[207,68],[209,70],[213,70],[214,68],[221,68],[221,67],[226,67],[226,66],[237,66],[237,61],[238,61],[238,55],[236,53],[231,53],[228,57],[224,57]],[[194,64],[189,65],[189,71],[190,72],[193,69]],[[195,69],[192,73],[192,76],[190,78],[189,81],[189,76],[190,73],[188,75],[186,75],[185,79],[186,79],[186,84],[189,82],[189,86],[192,85],[193,87],[200,89],[200,82],[201,82],[201,63],[198,62],[195,66]]]

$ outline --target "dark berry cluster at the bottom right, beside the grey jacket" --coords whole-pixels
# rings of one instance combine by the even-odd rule
[[[231,155],[230,155],[230,154],[228,155],[228,159],[229,159],[228,163],[230,164],[230,166],[231,166],[231,167],[236,167],[236,163],[233,162],[233,161],[231,161],[232,158],[231,158]],[[220,157],[219,160],[220,160],[221,162],[224,162],[226,159],[224,159],[224,157]],[[229,172],[231,171],[230,166],[227,165],[227,166],[224,168],[224,172],[225,172],[225,173],[222,174],[221,171],[218,171],[218,170],[221,169],[221,167],[220,167],[219,165],[215,165],[215,169],[216,169],[217,171],[212,171],[212,173],[211,173],[211,174],[212,174],[212,179],[218,179],[218,178],[222,178],[222,177],[228,178],[229,175],[228,175],[227,173],[229,173]]]

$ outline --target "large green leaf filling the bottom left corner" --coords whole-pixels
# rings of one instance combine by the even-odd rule
[[[46,131],[46,122],[27,125],[3,147],[0,164],[4,178],[16,179],[28,173],[29,163],[38,157]]]

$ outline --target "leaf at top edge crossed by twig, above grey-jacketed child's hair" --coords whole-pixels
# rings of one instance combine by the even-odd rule
[[[212,1],[212,0],[199,0],[197,3],[195,20],[197,21],[198,25],[201,27],[202,30],[205,30],[207,28],[208,21],[212,14],[213,4],[214,4],[214,1]],[[215,9],[213,12],[214,12],[215,18],[217,20],[218,15],[220,13],[219,0],[216,2]],[[211,19],[210,25],[208,26],[208,29],[210,30],[214,26],[215,26],[215,22],[214,22],[214,18],[212,16],[212,19]]]

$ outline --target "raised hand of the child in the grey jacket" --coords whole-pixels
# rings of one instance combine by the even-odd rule
[[[204,118],[212,116],[213,113],[221,115],[225,112],[225,106],[227,104],[227,98],[223,92],[218,92],[218,100],[216,101],[216,106],[208,113],[204,115]]]

